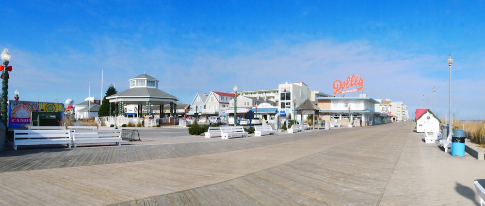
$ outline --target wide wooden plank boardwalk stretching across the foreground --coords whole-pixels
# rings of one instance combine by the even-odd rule
[[[0,205],[476,205],[485,163],[413,128],[5,151]]]

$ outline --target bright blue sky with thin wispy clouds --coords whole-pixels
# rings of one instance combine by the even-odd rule
[[[9,99],[81,103],[143,72],[190,103],[195,93],[304,82],[331,94],[355,74],[361,94],[484,120],[485,1],[10,0],[0,48]],[[101,70],[103,87],[101,88]],[[433,87],[436,94],[433,95]],[[358,95],[353,94],[353,95]]]

